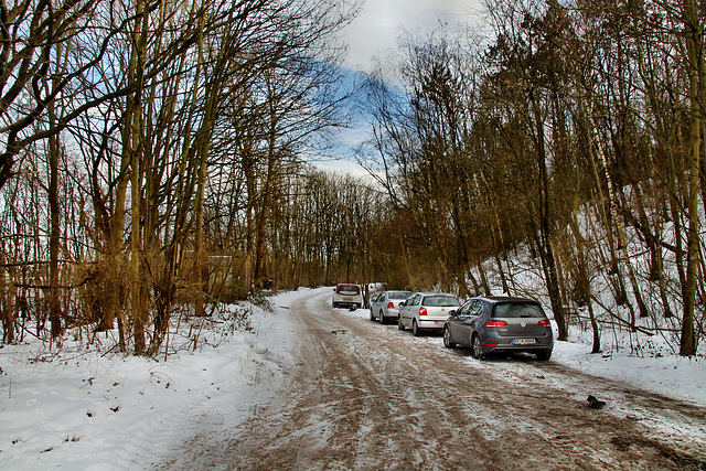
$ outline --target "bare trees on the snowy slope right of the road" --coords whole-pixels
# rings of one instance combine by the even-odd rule
[[[597,352],[600,321],[695,354],[706,6],[485,7],[492,39],[441,28],[407,40],[394,73],[368,75],[361,160],[405,221],[398,256],[426,268],[409,283],[488,293],[492,269],[503,291],[527,293],[509,261],[522,248],[559,340],[590,322]]]

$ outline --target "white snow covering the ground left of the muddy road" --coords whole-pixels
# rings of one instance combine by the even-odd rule
[[[0,469],[143,469],[141,459],[189,437],[226,392],[243,397],[228,407],[229,419],[237,420],[238,413],[245,418],[256,398],[270,394],[252,389],[254,375],[277,379],[278,364],[290,361],[291,324],[282,307],[301,292],[277,296],[275,312],[250,307],[253,331],[202,319],[196,350],[193,334],[180,346],[172,339],[176,352],[167,361],[68,340],[62,351],[49,351],[29,335],[26,343],[4,345]]]

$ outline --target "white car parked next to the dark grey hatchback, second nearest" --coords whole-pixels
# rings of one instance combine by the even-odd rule
[[[411,329],[415,336],[422,329],[443,329],[449,312],[460,306],[456,296],[447,292],[415,292],[399,306],[397,327]]]

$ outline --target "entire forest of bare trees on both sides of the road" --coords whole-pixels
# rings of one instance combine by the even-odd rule
[[[706,6],[484,7],[486,29],[407,38],[349,96],[352,2],[3,3],[3,342],[81,328],[157,355],[175,312],[261,289],[493,277],[546,297],[560,340],[585,323],[599,351],[611,324],[694,355]],[[307,163],[353,101],[368,180]]]

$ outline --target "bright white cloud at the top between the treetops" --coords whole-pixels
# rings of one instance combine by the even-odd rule
[[[354,71],[368,71],[371,57],[396,49],[403,30],[424,33],[435,29],[439,20],[472,23],[479,6],[479,0],[366,0],[360,15],[345,30],[346,65]]]

